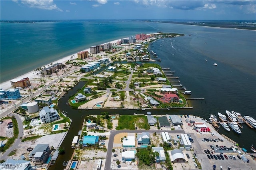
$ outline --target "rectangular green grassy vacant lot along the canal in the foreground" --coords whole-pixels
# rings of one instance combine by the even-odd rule
[[[135,124],[139,128],[143,128],[145,130],[149,129],[147,117],[144,115],[120,115],[116,130],[135,130]]]

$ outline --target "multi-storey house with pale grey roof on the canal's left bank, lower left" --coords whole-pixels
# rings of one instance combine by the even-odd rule
[[[44,164],[46,163],[50,153],[51,150],[48,144],[37,144],[28,155],[28,158],[32,162]]]

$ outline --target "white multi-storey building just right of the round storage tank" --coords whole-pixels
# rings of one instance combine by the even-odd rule
[[[40,109],[39,116],[43,123],[49,123],[60,119],[58,111],[49,107],[44,107],[43,109]]]

